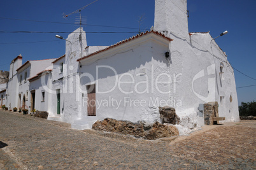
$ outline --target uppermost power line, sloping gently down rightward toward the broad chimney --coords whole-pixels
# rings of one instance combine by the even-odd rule
[[[52,22],[52,21],[44,21],[44,20],[25,20],[25,19],[18,19],[18,18],[5,18],[5,17],[0,17],[0,19],[5,19],[5,20],[22,20],[22,21],[29,21],[29,22],[44,22],[44,23],[52,23],[52,24],[80,25],[80,24],[73,24],[73,23],[68,23],[68,22]],[[137,29],[138,30],[138,28],[133,28],[133,27],[118,27],[118,26],[111,26],[111,25],[94,25],[94,24],[82,24],[82,25],[94,26],[94,27],[110,27],[110,28]]]

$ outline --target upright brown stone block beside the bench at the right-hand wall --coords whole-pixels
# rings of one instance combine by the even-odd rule
[[[204,124],[213,125],[218,124],[213,121],[213,117],[218,117],[218,102],[208,102],[204,104]]]

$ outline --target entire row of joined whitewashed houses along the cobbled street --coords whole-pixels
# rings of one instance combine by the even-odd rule
[[[107,117],[160,121],[159,106],[171,106],[181,120],[180,134],[186,134],[204,125],[199,104],[213,101],[226,122],[239,121],[227,55],[209,32],[189,33],[187,1],[173,1],[155,0],[152,30],[115,45],[87,46],[85,31],[80,36],[78,28],[58,59],[21,66],[18,56],[10,66],[8,104],[27,103],[75,129],[91,128]]]

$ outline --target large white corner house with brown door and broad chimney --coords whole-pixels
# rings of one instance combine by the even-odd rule
[[[172,106],[181,118],[182,134],[204,125],[199,104],[213,101],[219,103],[219,116],[226,122],[239,121],[234,71],[227,55],[209,32],[188,32],[183,11],[185,0],[156,0],[152,31],[78,59],[80,107],[73,127],[90,127],[106,117],[159,121],[158,107]],[[87,106],[90,101],[95,106]]]

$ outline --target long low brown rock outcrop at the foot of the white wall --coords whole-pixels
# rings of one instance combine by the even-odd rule
[[[139,122],[135,124],[129,121],[115,120],[113,118],[105,118],[103,121],[98,120],[92,125],[92,129],[97,131],[118,132],[125,135],[129,134],[136,138],[148,140],[179,135],[178,129],[173,125],[163,125],[159,122],[153,124]]]

